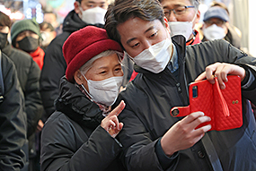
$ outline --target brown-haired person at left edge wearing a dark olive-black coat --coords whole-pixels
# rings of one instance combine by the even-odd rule
[[[36,156],[35,132],[43,112],[43,106],[40,98],[40,68],[31,56],[22,50],[14,48],[7,41],[7,34],[10,31],[10,18],[0,12],[0,35],[3,53],[8,56],[15,64],[18,71],[18,79],[25,98],[24,112],[27,115],[27,139],[29,140],[29,157]],[[30,170],[35,170],[33,162],[30,162]]]

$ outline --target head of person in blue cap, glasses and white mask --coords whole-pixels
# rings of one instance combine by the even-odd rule
[[[225,38],[228,31],[229,17],[225,9],[219,6],[210,7],[204,15],[202,41]]]

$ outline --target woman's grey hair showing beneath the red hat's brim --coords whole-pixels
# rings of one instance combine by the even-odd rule
[[[87,61],[83,66],[81,66],[81,68],[79,69],[82,73],[87,73],[88,70],[93,66],[93,62],[96,61],[97,59],[103,57],[103,56],[111,56],[112,54],[117,54],[119,57],[119,62],[121,63],[124,54],[119,52],[119,51],[115,51],[115,50],[107,50],[102,52],[101,54],[97,55],[97,56],[93,56],[92,59],[90,59],[89,61]]]

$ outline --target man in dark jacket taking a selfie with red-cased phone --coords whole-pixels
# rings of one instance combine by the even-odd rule
[[[116,0],[105,19],[108,35],[124,47],[138,73],[116,102],[126,103],[118,139],[128,170],[256,170],[256,123],[250,104],[256,104],[256,58],[223,39],[186,47],[184,37],[170,38],[157,0]],[[227,74],[241,78],[241,127],[212,131],[208,122],[225,116],[210,118],[200,111],[170,115],[172,107],[190,105],[190,82],[207,78],[225,90]]]

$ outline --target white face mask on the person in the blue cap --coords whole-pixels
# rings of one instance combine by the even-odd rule
[[[203,29],[203,33],[207,40],[221,39],[225,37],[225,30],[222,27],[213,24]]]

